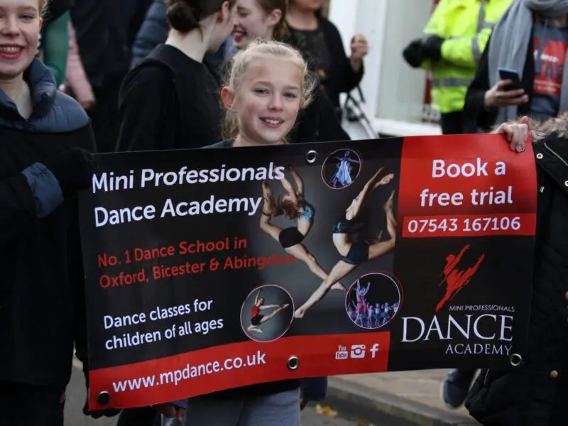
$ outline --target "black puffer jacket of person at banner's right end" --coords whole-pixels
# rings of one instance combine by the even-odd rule
[[[466,400],[482,425],[568,424],[568,139],[533,145],[538,210],[528,354],[512,371],[483,370]]]

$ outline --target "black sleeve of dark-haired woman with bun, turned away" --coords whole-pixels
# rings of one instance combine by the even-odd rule
[[[124,80],[119,94],[117,151],[153,151],[174,146],[168,120],[175,113],[175,88],[164,67],[143,65]]]

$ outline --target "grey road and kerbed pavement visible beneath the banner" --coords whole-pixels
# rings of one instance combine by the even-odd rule
[[[82,415],[84,380],[75,360],[67,388],[67,426],[115,426],[116,417],[92,420]],[[465,408],[449,410],[440,385],[449,370],[370,373],[329,378],[327,400],[310,404],[302,426],[475,426]],[[331,414],[330,414],[331,413]]]

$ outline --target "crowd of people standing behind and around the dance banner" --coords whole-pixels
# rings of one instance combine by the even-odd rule
[[[346,52],[323,6],[0,0],[2,424],[63,425],[74,349],[88,371],[77,192],[91,185],[92,153],[349,140],[339,99],[361,82],[368,42],[356,34]],[[474,381],[457,370],[444,383],[448,405],[465,400],[483,425],[568,418],[567,18],[568,0],[441,0],[403,52],[431,73],[444,134],[503,133],[519,155],[531,135],[536,153],[528,354],[514,371]],[[299,426],[326,387],[280,381],[84,414],[121,426]]]

